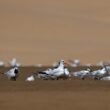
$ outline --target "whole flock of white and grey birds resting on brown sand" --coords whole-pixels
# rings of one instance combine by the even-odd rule
[[[0,63],[3,64],[3,63]],[[10,70],[4,72],[3,75],[7,77],[7,79],[16,81],[19,75],[20,63],[16,62],[16,59],[12,59],[9,64],[12,66]],[[85,78],[91,78],[93,80],[110,80],[110,66],[107,63],[100,63],[98,64],[99,68],[93,70],[90,64],[86,65],[85,69],[79,71],[71,71],[69,70],[68,64],[72,68],[76,68],[80,66],[80,60],[68,60],[68,63],[64,60],[59,60],[58,62],[54,63],[53,68],[48,68],[44,71],[37,71],[36,73],[30,73],[29,76],[26,77],[25,81],[31,82],[37,79],[41,80],[59,80],[59,79],[69,79],[72,78],[79,78],[84,80]],[[39,66],[41,67],[41,65]]]

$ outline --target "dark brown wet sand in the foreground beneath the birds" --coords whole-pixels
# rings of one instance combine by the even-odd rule
[[[72,79],[25,82],[27,75],[38,69],[21,68],[20,71],[17,81],[9,81],[0,74],[0,108],[3,110],[110,109],[109,81]]]

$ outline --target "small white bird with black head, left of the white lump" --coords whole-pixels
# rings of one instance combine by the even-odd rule
[[[18,77],[18,73],[19,73],[18,67],[14,67],[3,74],[6,75],[10,80],[16,80],[16,78]]]

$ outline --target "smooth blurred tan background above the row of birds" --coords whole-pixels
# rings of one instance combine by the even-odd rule
[[[110,60],[109,0],[0,0],[0,60],[49,65]]]

